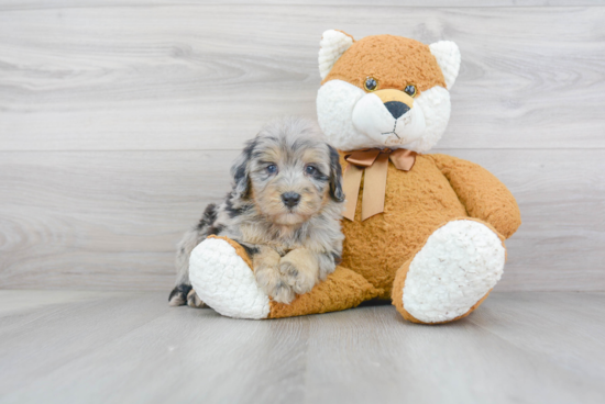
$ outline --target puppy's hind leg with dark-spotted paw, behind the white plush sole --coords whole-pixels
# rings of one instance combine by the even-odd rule
[[[170,306],[180,306],[187,303],[191,307],[204,307],[204,302],[196,295],[189,281],[189,256],[194,248],[201,243],[202,234],[193,229],[183,236],[176,251],[176,285],[168,296]]]

